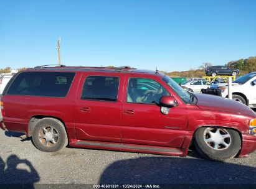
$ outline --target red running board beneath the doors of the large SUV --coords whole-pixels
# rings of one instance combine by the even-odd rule
[[[72,140],[73,141],[73,140]],[[107,149],[107,150],[120,150],[126,152],[143,152],[150,154],[163,154],[163,155],[184,155],[184,149],[171,148],[171,147],[158,147],[149,145],[131,145],[119,144],[111,142],[91,142],[91,141],[73,141],[70,142],[73,147],[87,147],[92,149]]]

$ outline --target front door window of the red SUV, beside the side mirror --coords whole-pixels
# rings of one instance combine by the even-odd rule
[[[127,90],[127,103],[159,103],[162,96],[170,96],[168,91],[154,80],[130,78]]]

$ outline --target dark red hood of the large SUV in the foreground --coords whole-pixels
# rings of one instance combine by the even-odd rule
[[[197,107],[212,111],[224,111],[229,113],[244,114],[256,118],[256,114],[252,109],[244,104],[228,98],[214,96],[210,94],[193,93],[197,98]]]

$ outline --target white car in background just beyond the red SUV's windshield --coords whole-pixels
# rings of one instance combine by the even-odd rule
[[[209,88],[211,85],[211,82],[204,79],[191,79],[183,83],[181,86],[186,86],[191,92],[201,93],[202,88]]]

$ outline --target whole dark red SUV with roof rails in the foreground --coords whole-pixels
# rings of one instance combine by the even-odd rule
[[[36,67],[17,73],[1,99],[1,128],[37,149],[72,147],[209,159],[256,149],[256,114],[244,104],[190,93],[159,71]]]

